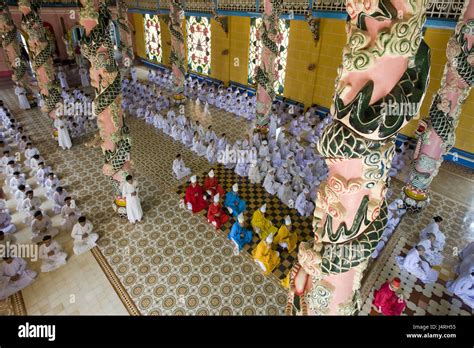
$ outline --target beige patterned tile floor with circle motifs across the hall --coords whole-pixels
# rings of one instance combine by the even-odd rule
[[[12,91],[3,90],[1,94],[1,98],[9,105],[16,105]],[[202,112],[200,114],[203,106],[196,106],[194,103],[188,103],[187,108],[193,117],[202,117],[205,126],[207,121],[212,123],[218,134],[226,131],[237,139],[247,133],[249,124],[245,120],[226,115],[225,112],[214,108],[211,108],[211,115],[204,115]],[[137,226],[131,226],[125,220],[117,218],[112,211],[110,185],[100,172],[100,150],[85,147],[83,143],[86,139],[81,139],[76,142],[71,152],[59,151],[50,137],[49,121],[37,109],[22,113],[18,118],[23,120],[28,131],[33,134],[35,143],[46,160],[58,168],[66,188],[78,197],[81,209],[96,226],[101,240],[98,248],[92,252],[94,258],[90,259],[95,259],[94,261],[100,264],[104,271],[102,275],[106,275],[129,313],[283,314],[286,291],[280,286],[277,278],[283,276],[289,264],[274,272],[273,276],[263,276],[247,252],[242,252],[239,256],[232,255],[232,246],[226,240],[225,231],[216,232],[202,215],[193,216],[178,208],[180,196],[176,193],[182,192],[180,185],[184,184],[185,179],[178,182],[172,176],[171,163],[176,153],[182,153],[186,164],[195,173],[205,173],[209,170],[210,165],[205,159],[197,157],[143,121],[129,117],[127,122],[134,139],[132,157],[145,211],[144,221]],[[234,122],[232,127],[229,122]],[[460,173],[464,176],[462,170]],[[218,174],[224,189],[230,189],[236,179],[235,174]],[[249,213],[261,204],[263,197],[270,201],[275,199],[266,197],[266,193],[258,190],[255,192],[242,178],[238,178],[238,181],[244,197],[248,200]],[[397,193],[401,183],[395,181],[394,187]],[[278,225],[288,212],[284,209],[280,211],[281,205],[278,202],[272,203],[273,205],[272,219]],[[435,213],[446,218],[444,230],[449,231],[445,262],[442,265],[440,281],[433,286],[424,286],[409,275],[399,275],[394,257],[406,253],[409,245],[416,242],[414,236]],[[365,303],[361,315],[374,314],[370,309],[374,287],[379,287],[394,275],[402,278],[403,289],[408,298],[406,314],[472,315],[472,311],[460,304],[459,299],[449,295],[444,288],[446,280],[453,275],[455,258],[452,256],[452,248],[462,247],[474,237],[463,220],[467,214],[466,204],[435,193],[433,204],[421,215],[407,216],[384,252],[369,268],[370,272],[365,277],[362,288]],[[301,223],[304,225],[310,222],[311,219]],[[229,227],[230,223],[224,229],[228,230]],[[306,226],[301,227],[301,230],[306,231]],[[302,239],[305,238],[307,237],[303,236]],[[290,255],[286,259],[288,263],[291,257]],[[68,266],[64,270],[67,271]],[[97,263],[95,267],[98,268]],[[77,273],[73,273],[73,276],[77,277]],[[110,284],[107,286],[112,288]],[[42,296],[50,295],[51,288],[53,287],[42,287]],[[23,293],[26,294],[28,290],[25,289]],[[82,290],[94,294],[87,287]],[[65,293],[69,294],[69,291]],[[41,297],[38,298],[40,299]],[[21,309],[21,301],[20,297],[0,303],[0,313],[21,312],[18,309]],[[25,302],[28,313],[35,306],[39,307],[39,303]],[[54,308],[45,305],[38,314],[53,312]],[[36,310],[30,314],[34,313],[37,313]],[[58,314],[61,313],[65,314],[61,311]]]

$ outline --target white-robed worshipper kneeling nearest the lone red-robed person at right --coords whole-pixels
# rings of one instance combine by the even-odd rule
[[[425,248],[417,245],[408,252],[406,257],[397,256],[396,261],[401,270],[414,275],[425,284],[432,284],[438,279],[438,272],[424,260],[424,253]]]

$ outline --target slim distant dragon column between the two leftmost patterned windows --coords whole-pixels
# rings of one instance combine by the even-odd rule
[[[183,35],[184,5],[182,0],[170,2],[169,28],[171,34],[170,63],[173,71],[173,92],[175,103],[184,102],[184,35]]]

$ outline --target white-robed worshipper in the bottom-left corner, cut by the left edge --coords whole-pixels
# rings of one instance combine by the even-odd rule
[[[3,257],[0,273],[0,300],[17,293],[33,283],[35,271],[26,268],[26,261],[19,257]]]

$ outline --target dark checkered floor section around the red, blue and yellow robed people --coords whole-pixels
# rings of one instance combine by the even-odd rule
[[[284,219],[286,215],[290,215],[291,221],[293,223],[293,231],[298,234],[298,242],[309,241],[313,238],[312,235],[312,217],[302,217],[298,214],[295,209],[290,209],[287,206],[283,205],[278,197],[270,195],[261,185],[254,185],[250,183],[248,178],[238,176],[233,170],[226,169],[222,165],[217,165],[214,167],[215,175],[219,180],[220,185],[225,192],[232,190],[232,185],[235,183],[239,184],[239,195],[247,203],[247,208],[245,212],[245,218],[247,223],[250,226],[250,220],[252,219],[252,214],[255,210],[259,209],[264,203],[267,204],[266,217],[273,222],[273,225],[277,228],[280,228],[284,224]],[[208,172],[204,172],[199,176],[200,184],[203,184],[204,178]],[[184,197],[189,183],[183,184],[178,187],[177,193],[180,197]],[[203,216],[203,220],[207,221],[207,210],[204,210],[200,215]],[[231,217],[230,221],[222,226],[222,231],[224,235],[227,236],[229,233],[232,224],[235,222],[235,218]],[[249,253],[251,256],[252,251],[257,247],[260,239],[254,233],[253,239],[250,244],[245,245],[244,250]],[[294,265],[298,257],[297,248],[291,253],[288,251],[280,252],[280,264],[275,268],[273,274],[278,279],[284,279],[289,273],[291,267]]]

